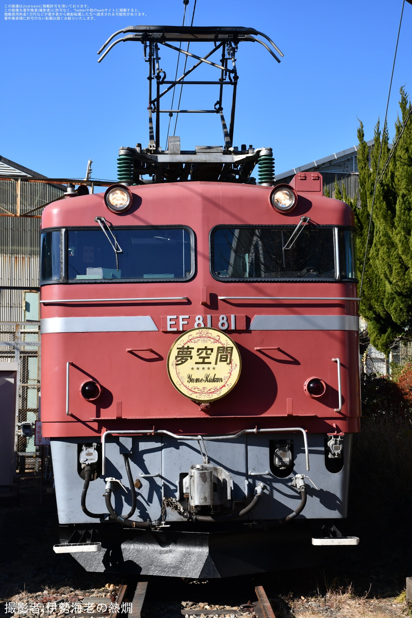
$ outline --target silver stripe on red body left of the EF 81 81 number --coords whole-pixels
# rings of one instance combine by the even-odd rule
[[[98,316],[90,318],[43,318],[42,335],[49,332],[135,332],[157,331],[149,315]]]

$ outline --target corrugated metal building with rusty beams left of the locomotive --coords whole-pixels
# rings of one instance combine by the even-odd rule
[[[22,436],[20,423],[38,418],[40,208],[65,191],[31,177],[46,178],[0,156],[0,360],[19,366],[15,451],[23,473],[38,460],[34,436]]]

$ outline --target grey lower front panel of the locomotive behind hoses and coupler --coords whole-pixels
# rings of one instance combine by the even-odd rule
[[[277,468],[271,461],[274,459],[271,447],[274,438],[285,444],[293,444],[293,462],[290,467],[285,467],[286,476],[283,477],[282,474],[277,475]],[[91,440],[51,439],[57,509],[61,524],[91,521],[98,523],[98,519],[92,520],[83,512],[80,504],[84,481],[79,473],[79,453],[83,444],[90,444]],[[224,484],[228,499],[227,502],[222,502],[220,497],[218,501],[212,502],[212,509],[215,504],[219,505],[216,507],[217,512],[221,505],[224,509],[237,509],[247,504],[253,498],[255,488],[258,488],[259,483],[263,483],[267,490],[256,508],[244,516],[245,519],[285,517],[300,503],[300,494],[291,486],[293,476],[305,474],[308,499],[305,509],[298,517],[346,517],[351,436],[347,435],[343,439],[343,467],[339,472],[329,472],[327,469],[325,444],[325,434],[308,434],[310,470],[307,471],[305,445],[300,433],[278,433],[276,436],[248,434],[236,439],[204,441],[203,445],[196,440],[185,441],[169,436],[109,436],[106,442],[104,477],[100,474],[96,480],[90,482],[86,506],[90,512],[101,514],[100,521],[109,519],[103,493],[104,479],[111,477],[119,480],[125,488],[116,483],[112,495],[114,510],[119,515],[128,512],[132,494],[124,460],[124,454],[127,454],[135,481],[136,489],[133,489],[137,493],[137,510],[132,520],[161,520],[162,501],[166,499],[167,504],[167,499],[183,501],[187,498],[189,476],[191,474],[195,478],[196,472],[201,472],[202,478],[212,478],[215,485]],[[98,457],[101,460],[100,446],[98,443]],[[98,472],[101,472],[101,461],[98,465]],[[196,491],[199,493],[198,489]],[[220,491],[219,496],[222,496],[222,490]],[[166,519],[168,523],[184,523],[179,512],[172,512],[169,507],[166,509]]]

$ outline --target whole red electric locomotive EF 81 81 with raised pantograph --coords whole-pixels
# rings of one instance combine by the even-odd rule
[[[118,184],[42,218],[55,551],[88,570],[198,578],[356,544],[313,531],[347,515],[359,431],[353,213],[323,195],[320,174],[275,185],[270,148],[232,145],[237,45],[280,51],[251,28],[124,33],[115,43],[143,43],[149,66],[148,148],[121,148]],[[160,109],[162,88],[192,70],[167,82],[159,46],[170,41],[214,44],[183,53],[219,71],[208,83],[224,146],[181,151],[169,137],[161,150],[159,114],[175,112]],[[217,49],[220,64],[208,60]]]

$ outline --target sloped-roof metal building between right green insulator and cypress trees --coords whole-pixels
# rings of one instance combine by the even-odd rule
[[[374,140],[369,140],[367,143],[370,151]],[[328,188],[330,197],[334,197],[336,178],[340,191],[342,192],[342,182],[344,182],[348,197],[354,198],[356,195],[359,195],[357,152],[357,146],[352,146],[347,148],[347,150],[317,159],[317,161],[311,161],[306,165],[293,167],[293,169],[289,169],[287,172],[276,174],[276,182],[290,182],[298,172],[316,171],[322,174],[324,187]]]

